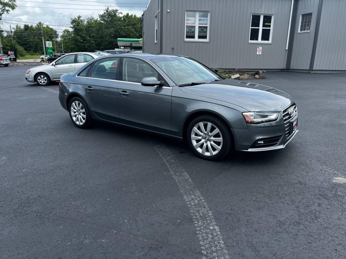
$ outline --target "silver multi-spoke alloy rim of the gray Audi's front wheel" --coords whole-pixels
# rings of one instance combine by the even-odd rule
[[[193,147],[202,155],[213,156],[222,148],[220,130],[210,122],[199,122],[191,131]]]

